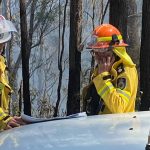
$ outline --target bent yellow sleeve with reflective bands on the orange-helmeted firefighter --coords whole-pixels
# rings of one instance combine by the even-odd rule
[[[103,72],[93,79],[98,94],[112,113],[124,112],[131,98],[131,81],[125,72],[123,79],[123,88],[112,84],[109,72]]]

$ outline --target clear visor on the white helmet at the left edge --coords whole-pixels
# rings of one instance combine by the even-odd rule
[[[0,34],[6,32],[17,32],[17,30],[11,21],[0,20]]]

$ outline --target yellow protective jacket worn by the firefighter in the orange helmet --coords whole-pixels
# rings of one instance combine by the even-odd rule
[[[120,60],[113,64],[111,71],[97,74],[95,69],[93,74],[94,85],[105,106],[99,114],[135,111],[138,87],[135,64],[127,55],[125,48],[114,49],[114,51]]]

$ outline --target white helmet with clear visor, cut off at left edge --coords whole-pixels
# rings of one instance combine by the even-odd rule
[[[0,43],[5,43],[11,39],[11,32],[17,32],[15,26],[0,15]]]

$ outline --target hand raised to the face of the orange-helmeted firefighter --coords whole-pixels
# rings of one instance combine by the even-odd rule
[[[114,61],[115,57],[113,55],[111,57],[103,57],[101,60],[99,60],[98,74],[101,74],[103,72],[110,72]]]

